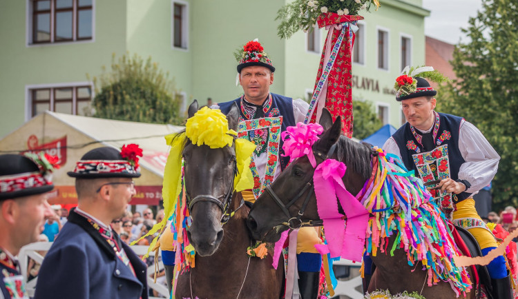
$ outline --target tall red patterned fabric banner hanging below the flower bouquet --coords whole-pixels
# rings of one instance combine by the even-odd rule
[[[325,103],[324,107],[331,112],[333,120],[337,116],[342,117],[342,130],[349,138],[352,137],[353,124],[351,54],[354,30],[352,27],[356,27],[356,21],[361,19],[363,17],[358,15],[339,16],[334,12],[320,14],[317,19],[318,27],[326,27],[329,32],[316,75],[314,96],[308,112],[309,114],[312,111],[309,123],[316,122]]]

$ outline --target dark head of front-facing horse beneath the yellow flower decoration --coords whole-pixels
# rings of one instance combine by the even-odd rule
[[[198,102],[189,106],[189,118],[198,111]],[[227,121],[229,130],[238,127],[239,108],[233,105]],[[222,217],[230,205],[236,174],[236,144],[211,148],[195,145],[189,138],[182,152],[184,184],[192,225],[189,242],[200,256],[213,254],[223,238]]]

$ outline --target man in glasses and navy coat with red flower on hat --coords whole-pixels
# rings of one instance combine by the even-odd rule
[[[148,298],[146,265],[110,227],[124,216],[138,178],[137,145],[87,152],[73,172],[77,208],[50,247],[35,298]]]

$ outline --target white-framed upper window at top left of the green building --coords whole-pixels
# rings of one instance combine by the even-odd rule
[[[50,1],[50,6],[52,6],[52,2]],[[74,13],[73,16],[77,15],[77,6],[74,7]],[[55,20],[54,20],[54,14],[50,13],[50,41],[48,43],[32,43],[32,30],[34,28],[32,24],[32,0],[26,0],[26,48],[33,48],[33,47],[46,47],[49,45],[68,45],[70,43],[95,43],[95,0],[92,0],[92,39],[81,39],[79,41],[54,41],[54,26],[55,26]],[[75,17],[73,17],[72,22],[72,37],[73,39],[76,39],[76,26],[77,22]]]

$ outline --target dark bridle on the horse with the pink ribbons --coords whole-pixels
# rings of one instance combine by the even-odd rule
[[[327,154],[324,154],[323,152],[320,152],[318,150],[314,150],[313,154],[315,157],[320,158],[322,161],[327,160],[329,156],[331,156],[334,151],[336,150],[336,143],[329,149],[329,152]],[[309,190],[309,191],[308,191]],[[279,196],[275,194],[274,190],[271,189],[271,186],[268,185],[266,187],[266,191],[272,198],[274,198],[274,201],[277,203],[277,205],[280,207],[282,212],[288,217],[288,221],[285,223],[281,223],[281,225],[286,225],[290,229],[300,229],[300,227],[318,227],[322,226],[324,224],[323,220],[302,220],[302,216],[306,210],[307,204],[309,203],[309,198],[311,198],[311,195],[314,194],[314,185],[311,182],[306,183],[304,185],[304,188],[298,192],[298,194],[289,201],[286,205],[282,203],[282,200],[280,200]],[[289,214],[289,207],[296,203],[300,197],[303,196],[303,194],[306,192],[306,198],[304,199],[303,205],[300,207],[300,210],[297,213],[296,217],[291,217],[291,214]]]

